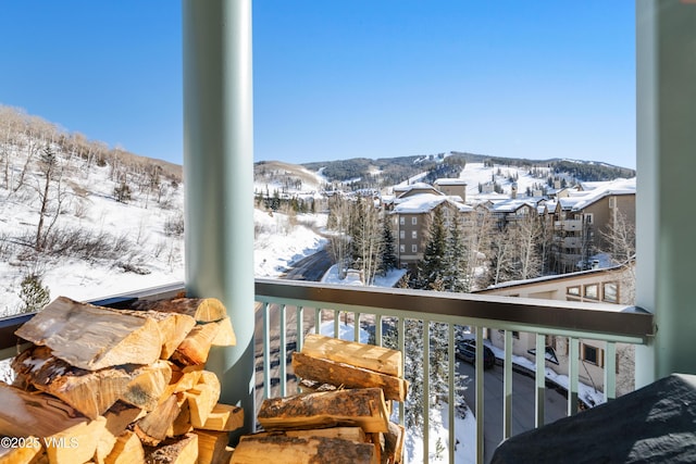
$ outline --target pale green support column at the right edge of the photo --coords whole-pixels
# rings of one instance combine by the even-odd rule
[[[636,388],[696,373],[696,3],[636,1],[636,304],[657,336],[636,348]]]

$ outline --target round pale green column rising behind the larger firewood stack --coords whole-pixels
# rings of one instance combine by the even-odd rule
[[[213,349],[221,401],[253,404],[251,0],[184,0],[186,290],[224,302],[237,346]],[[236,437],[233,437],[233,442]]]

